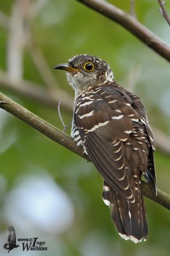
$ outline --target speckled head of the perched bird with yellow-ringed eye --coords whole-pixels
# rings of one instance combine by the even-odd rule
[[[113,81],[113,72],[106,61],[87,54],[69,59],[68,63],[59,64],[55,69],[66,70],[67,80],[79,95],[93,86]]]

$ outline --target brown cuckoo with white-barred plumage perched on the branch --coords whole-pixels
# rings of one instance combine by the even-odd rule
[[[115,81],[106,61],[76,55],[66,70],[75,92],[71,137],[103,176],[103,200],[125,240],[148,237],[141,177],[157,194],[152,130],[141,99]]]

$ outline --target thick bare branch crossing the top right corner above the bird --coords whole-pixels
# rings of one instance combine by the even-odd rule
[[[117,8],[116,6],[106,3],[103,0],[76,0],[83,3],[93,10],[101,13],[102,15],[114,20],[122,27],[131,32],[141,42],[148,45],[153,51],[157,52],[160,56],[170,61],[170,47],[166,45],[158,36],[152,31],[143,26],[129,13]]]

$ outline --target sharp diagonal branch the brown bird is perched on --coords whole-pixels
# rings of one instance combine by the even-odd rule
[[[66,147],[67,149],[71,150],[78,156],[81,156],[90,161],[89,157],[83,154],[83,148],[77,147],[70,136],[64,134],[64,132],[61,132],[59,129],[49,124],[39,116],[34,115],[33,113],[31,113],[31,111],[23,108],[10,98],[6,97],[3,93],[0,93],[0,108],[11,113],[11,115],[16,116],[18,119],[22,120],[26,124],[29,124],[37,131],[43,133],[46,137],[59,143],[63,147]],[[170,209],[169,195],[158,189],[158,194],[156,196],[155,193],[150,188],[150,186],[146,184],[146,182],[142,182],[141,185],[143,189],[143,194],[146,197],[150,198],[157,204],[162,205],[166,209]]]

